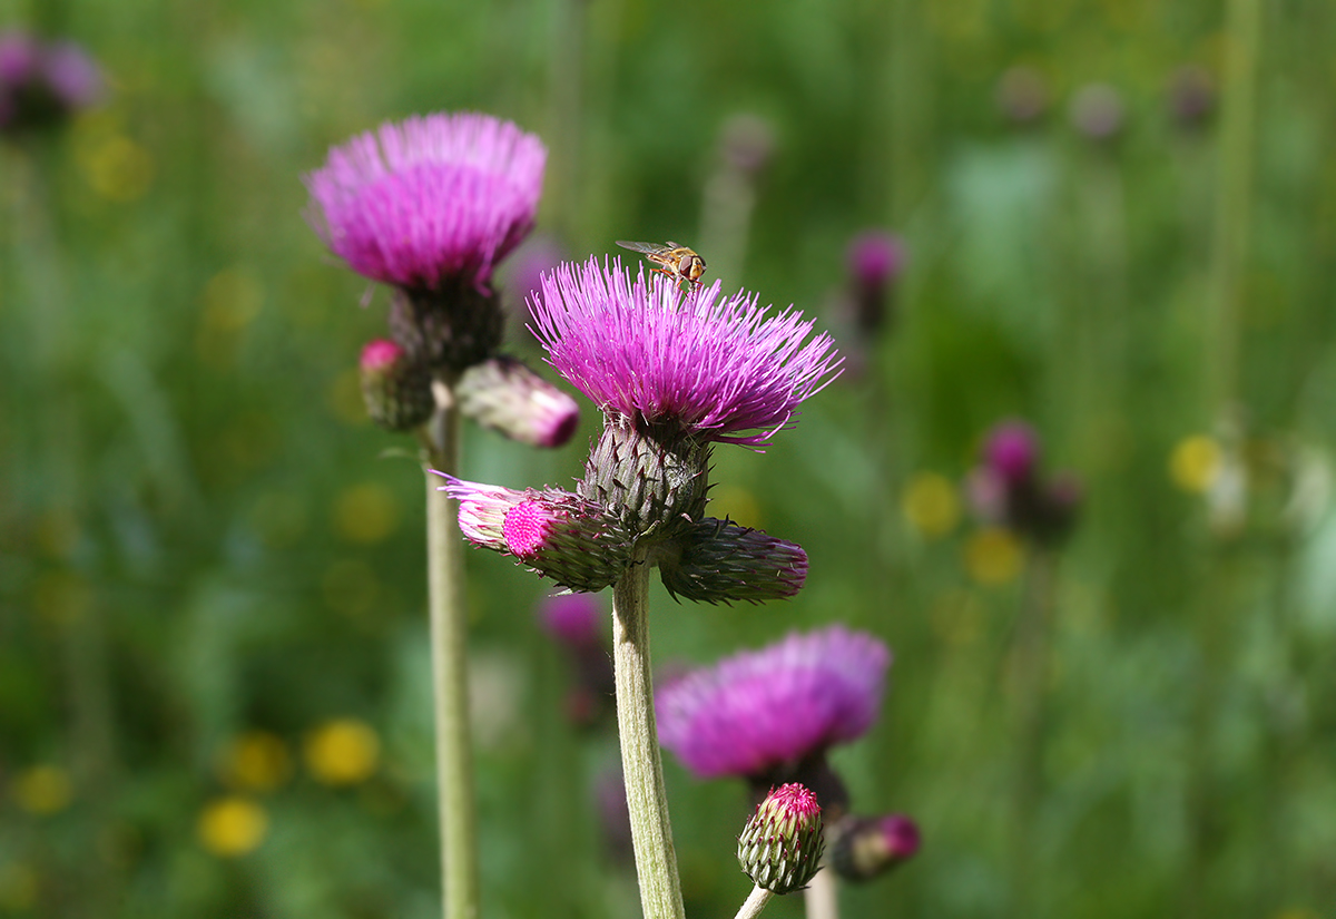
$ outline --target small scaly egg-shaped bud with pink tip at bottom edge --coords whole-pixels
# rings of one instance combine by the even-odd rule
[[[737,838],[737,862],[755,884],[774,894],[806,887],[820,867],[822,807],[798,783],[770,792]]]

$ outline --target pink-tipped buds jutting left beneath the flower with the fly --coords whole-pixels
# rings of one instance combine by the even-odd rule
[[[631,562],[631,541],[599,508],[569,492],[480,485],[446,476],[470,542],[514,556],[569,590],[603,590]]]

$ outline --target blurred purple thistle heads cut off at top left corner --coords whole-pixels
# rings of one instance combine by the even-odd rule
[[[59,126],[104,91],[102,69],[73,41],[0,35],[0,134]]]

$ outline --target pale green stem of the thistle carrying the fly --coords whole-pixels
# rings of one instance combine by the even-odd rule
[[[631,842],[645,919],[684,919],[677,854],[668,820],[649,671],[649,565],[636,560],[613,586],[612,660],[617,679],[617,733],[627,780]]]

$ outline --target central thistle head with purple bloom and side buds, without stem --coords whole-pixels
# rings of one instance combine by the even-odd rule
[[[576,493],[516,492],[454,478],[465,536],[572,590],[613,584],[636,553],[691,600],[759,602],[802,586],[802,548],[704,517],[712,445],[762,446],[839,366],[828,335],[792,309],[683,293],[620,260],[564,264],[533,301],[552,365],[604,413]]]

